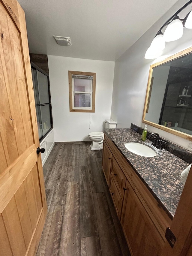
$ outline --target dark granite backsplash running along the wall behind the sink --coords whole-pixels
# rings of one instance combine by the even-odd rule
[[[132,124],[132,123],[131,123],[131,129],[136,131],[137,133],[139,133],[141,135],[142,135],[143,130],[144,130],[140,126]],[[148,139],[149,139],[149,135],[151,133],[152,133],[151,131],[147,131],[147,138]],[[192,162],[192,153],[189,150],[184,149],[184,148],[176,145],[175,143],[173,143],[169,140],[166,140],[162,137],[160,139],[166,142],[166,145],[164,146],[164,149],[166,149],[167,151],[169,151],[173,155],[176,155],[177,157],[181,158],[185,162],[191,164],[191,162]],[[151,140],[151,139],[149,139],[149,140]]]

